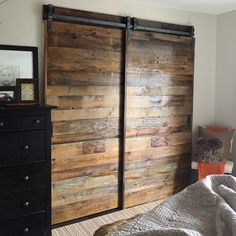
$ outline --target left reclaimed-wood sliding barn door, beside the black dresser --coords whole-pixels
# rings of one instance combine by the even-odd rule
[[[53,22],[45,42],[56,224],[118,207],[123,31]]]

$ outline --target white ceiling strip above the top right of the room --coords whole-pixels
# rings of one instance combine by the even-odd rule
[[[236,10],[236,0],[137,0],[187,11],[221,14]]]

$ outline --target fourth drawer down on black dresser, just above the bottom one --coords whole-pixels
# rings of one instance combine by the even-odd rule
[[[0,221],[44,211],[46,194],[44,188],[12,192],[0,195]]]

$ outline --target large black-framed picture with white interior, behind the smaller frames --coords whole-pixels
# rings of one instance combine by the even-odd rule
[[[0,88],[15,86],[16,78],[38,78],[38,48],[0,45]]]

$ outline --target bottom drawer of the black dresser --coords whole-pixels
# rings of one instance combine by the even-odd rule
[[[1,236],[46,236],[45,215],[35,214],[17,220],[0,222]]]

